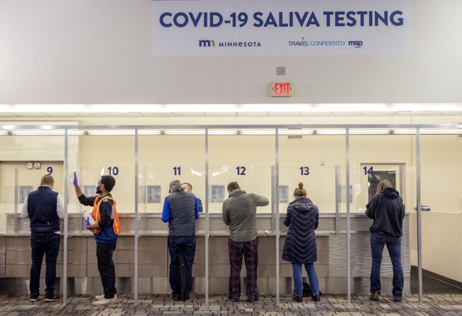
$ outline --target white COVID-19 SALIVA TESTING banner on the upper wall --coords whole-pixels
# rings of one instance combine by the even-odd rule
[[[411,0],[151,1],[156,56],[411,53]]]

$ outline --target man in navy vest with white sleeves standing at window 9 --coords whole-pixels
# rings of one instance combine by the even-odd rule
[[[21,212],[23,219],[30,220],[30,247],[32,266],[30,267],[30,302],[38,300],[40,270],[45,254],[45,302],[59,300],[54,293],[56,284],[56,258],[60,250],[60,219],[64,218],[64,201],[60,193],[54,192],[54,179],[45,174],[40,187],[30,192]]]

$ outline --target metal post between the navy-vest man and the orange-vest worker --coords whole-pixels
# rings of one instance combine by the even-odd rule
[[[63,245],[63,305],[67,305],[67,205],[69,203],[69,134],[64,129],[64,245]]]

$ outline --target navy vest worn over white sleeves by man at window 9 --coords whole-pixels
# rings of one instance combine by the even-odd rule
[[[31,232],[60,230],[60,218],[56,212],[58,193],[49,187],[38,187],[27,195],[27,212]]]

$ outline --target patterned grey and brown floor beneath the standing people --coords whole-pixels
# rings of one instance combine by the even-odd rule
[[[252,315],[252,316],[295,316],[295,315],[335,315],[335,316],[434,316],[462,315],[462,295],[431,294],[424,298],[424,305],[418,305],[415,295],[406,296],[401,303],[394,303],[390,297],[382,297],[380,302],[372,302],[365,295],[353,295],[350,305],[344,295],[323,295],[321,302],[304,300],[294,302],[290,297],[282,297],[276,305],[274,297],[262,297],[258,303],[233,303],[224,296],[211,297],[206,305],[201,296],[191,300],[174,302],[166,295],[140,295],[138,306],[133,305],[133,297],[120,295],[118,303],[107,307],[91,305],[89,295],[72,295],[68,304],[62,302],[30,303],[28,295],[0,295],[0,316],[16,315],[78,315],[78,316],[119,316],[119,315]],[[245,300],[245,297],[243,297]]]

